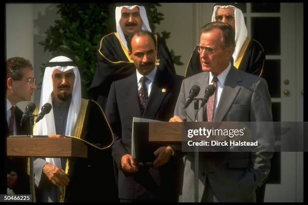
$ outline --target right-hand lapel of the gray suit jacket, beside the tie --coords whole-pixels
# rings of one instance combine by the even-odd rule
[[[235,97],[241,89],[241,87],[237,85],[241,80],[242,78],[239,71],[237,71],[236,68],[232,66],[226,76],[213,121],[222,121],[223,117],[225,116],[226,112],[232,105]]]

